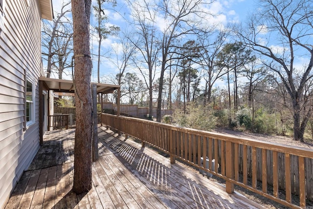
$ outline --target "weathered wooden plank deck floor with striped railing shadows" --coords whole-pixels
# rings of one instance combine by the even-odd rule
[[[16,208],[263,208],[195,170],[99,127],[93,188],[71,191],[75,129],[48,132],[44,145],[15,188],[6,209]]]

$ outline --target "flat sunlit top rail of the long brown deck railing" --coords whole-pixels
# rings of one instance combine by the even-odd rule
[[[179,126],[163,124],[163,123],[159,123],[159,122],[155,122],[155,121],[148,121],[148,120],[140,119],[140,118],[129,118],[129,117],[125,117],[125,116],[116,116],[116,115],[111,115],[111,114],[106,114],[106,113],[102,113],[102,114],[106,115],[108,117],[117,117],[117,118],[121,118],[121,119],[128,120],[128,121],[137,121],[137,122],[141,122],[141,123],[145,123],[145,124],[156,125],[158,127],[163,127],[163,128],[169,129],[169,130],[175,130],[175,131],[200,135],[202,137],[208,137],[208,138],[228,141],[228,142],[232,142],[232,143],[236,143],[236,144],[253,146],[253,147],[262,148],[262,149],[268,149],[268,150],[272,150],[272,151],[297,155],[297,156],[301,156],[301,157],[313,158],[313,150],[309,149],[309,148],[302,148],[302,147],[289,146],[289,145],[281,145],[281,144],[275,144],[272,142],[263,142],[263,141],[257,140],[257,139],[236,137],[236,136],[232,136],[232,135],[228,135],[228,134],[214,133],[214,132],[210,132],[210,131],[203,131],[203,130],[187,128],[187,127],[179,127]]]

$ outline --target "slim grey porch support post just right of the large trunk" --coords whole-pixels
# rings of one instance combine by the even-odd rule
[[[92,84],[92,116],[93,116],[93,136],[92,136],[92,160],[98,160],[98,114],[97,114],[97,84]]]

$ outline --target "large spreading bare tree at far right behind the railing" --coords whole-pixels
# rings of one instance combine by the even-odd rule
[[[247,31],[237,28],[235,32],[266,58],[264,64],[285,85],[292,103],[293,139],[303,141],[313,105],[312,88],[306,86],[313,77],[312,0],[262,0],[256,11]],[[300,57],[306,62],[297,67]]]

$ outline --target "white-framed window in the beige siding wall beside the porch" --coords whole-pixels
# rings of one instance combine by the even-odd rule
[[[29,80],[26,80],[26,125],[35,122],[34,115],[34,85]]]

